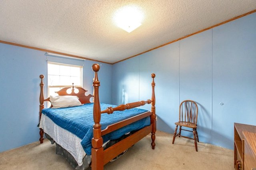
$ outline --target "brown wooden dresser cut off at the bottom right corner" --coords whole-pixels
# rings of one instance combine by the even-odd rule
[[[234,167],[256,170],[256,126],[234,123]]]

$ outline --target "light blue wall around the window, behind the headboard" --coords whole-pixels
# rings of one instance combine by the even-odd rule
[[[83,66],[83,88],[92,94],[95,61],[46,56],[44,51],[0,43],[0,152],[39,141],[40,74],[47,95],[47,61]],[[112,102],[112,65],[98,63],[100,102]]]

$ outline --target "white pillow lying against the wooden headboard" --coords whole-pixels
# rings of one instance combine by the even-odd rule
[[[52,109],[81,106],[77,96],[50,96]]]

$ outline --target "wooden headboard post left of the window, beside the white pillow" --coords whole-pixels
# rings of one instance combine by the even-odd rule
[[[40,96],[39,96],[39,102],[40,102],[40,105],[39,105],[39,123],[40,123],[40,120],[41,120],[41,115],[42,115],[42,109],[44,109],[44,82],[43,82],[43,79],[44,79],[44,75],[40,75],[39,76],[41,78],[41,83],[40,83]],[[39,126],[39,124],[38,124]],[[43,143],[44,142],[44,130],[42,128],[40,128],[40,143]]]

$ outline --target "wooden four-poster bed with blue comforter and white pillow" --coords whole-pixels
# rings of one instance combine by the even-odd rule
[[[149,133],[152,149],[155,148],[155,74],[151,74],[151,99],[115,106],[100,103],[99,64],[93,64],[92,70],[94,96],[86,96],[87,90],[72,86],[56,92],[58,96],[44,99],[44,75],[40,75],[39,140],[43,143],[45,134],[52,144],[56,143],[56,153],[70,158],[67,160],[75,169],[90,166],[92,170],[102,170]],[[44,108],[46,101],[51,102],[50,108]],[[145,104],[151,104],[151,111],[138,108]]]

